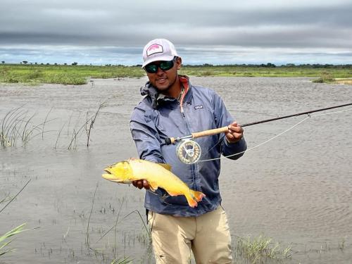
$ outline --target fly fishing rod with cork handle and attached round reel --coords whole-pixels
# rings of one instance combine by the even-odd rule
[[[309,115],[310,113],[325,111],[325,110],[334,109],[334,108],[340,108],[340,107],[344,107],[344,106],[352,106],[352,103],[345,103],[345,104],[341,104],[339,106],[330,106],[330,107],[326,107],[326,108],[320,108],[320,109],[301,112],[301,113],[294,113],[291,115],[283,115],[283,116],[279,116],[277,118],[270,118],[270,119],[260,120],[260,121],[256,121],[256,122],[249,122],[244,125],[241,125],[241,127],[249,127],[251,125],[258,125],[258,124],[262,124],[264,122],[272,122],[275,120],[292,118],[292,117],[298,116],[298,115]],[[220,134],[220,133],[228,132],[228,131],[229,131],[229,127],[226,126],[226,127],[215,128],[213,130],[204,130],[201,132],[194,132],[194,133],[191,133],[190,135],[184,136],[184,137],[167,137],[165,139],[165,144],[170,145],[170,144],[175,144],[177,142],[180,142],[177,146],[177,149],[176,149],[176,153],[177,153],[178,158],[180,158],[180,161],[182,161],[183,163],[192,164],[192,163],[196,163],[197,161],[199,161],[199,158],[201,157],[201,147],[199,146],[198,143],[196,143],[195,141],[193,141],[191,139],[212,136],[214,134]]]

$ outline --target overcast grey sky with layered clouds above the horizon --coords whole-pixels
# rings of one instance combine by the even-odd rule
[[[154,38],[184,64],[352,64],[351,0],[0,0],[0,61],[142,64]]]

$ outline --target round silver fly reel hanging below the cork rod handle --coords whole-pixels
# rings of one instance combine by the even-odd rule
[[[182,139],[176,148],[176,155],[186,164],[193,164],[201,158],[201,146],[191,139]]]

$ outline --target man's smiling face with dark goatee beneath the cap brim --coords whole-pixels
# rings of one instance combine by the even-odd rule
[[[172,63],[171,61],[154,61],[153,63],[146,65],[144,70],[146,70],[146,75],[151,84],[153,84],[153,87],[156,87],[161,93],[168,95],[168,91],[177,83],[177,70],[180,70],[181,62],[182,60],[180,57],[174,58]],[[162,70],[162,68],[165,69],[171,65],[172,67],[170,69]],[[149,73],[147,69],[148,66],[152,66],[150,68],[153,68],[154,71],[156,68],[156,73]]]

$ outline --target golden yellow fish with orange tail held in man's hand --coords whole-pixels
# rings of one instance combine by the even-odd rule
[[[104,170],[107,172],[101,177],[111,182],[130,184],[134,180],[146,180],[152,191],[158,187],[165,189],[170,196],[186,196],[189,206],[196,207],[205,194],[189,189],[187,184],[170,171],[170,165],[152,163],[137,158],[120,161]]]

